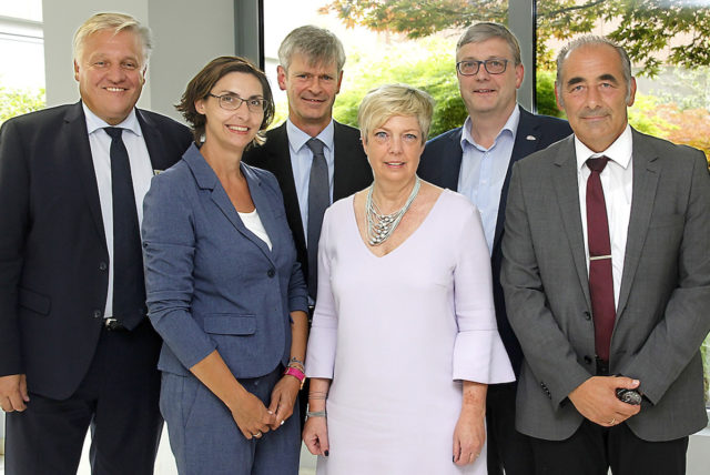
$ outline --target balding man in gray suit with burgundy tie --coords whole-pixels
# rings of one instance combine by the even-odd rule
[[[516,163],[503,242],[517,428],[538,474],[683,474],[707,424],[708,164],[629,127],[622,48],[582,37],[557,68],[575,134]]]

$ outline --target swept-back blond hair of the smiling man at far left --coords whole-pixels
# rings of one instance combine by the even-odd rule
[[[143,26],[130,14],[111,12],[97,13],[79,27],[74,33],[73,41],[74,61],[81,60],[87,38],[104,30],[113,31],[113,34],[119,34],[121,31],[132,31],[135,33],[143,44],[143,64],[141,64],[141,69],[148,65],[148,60],[153,49],[150,28]]]

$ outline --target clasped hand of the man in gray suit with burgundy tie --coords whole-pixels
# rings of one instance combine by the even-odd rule
[[[622,403],[617,398],[617,388],[636,390],[638,380],[622,376],[592,376],[569,393],[577,411],[589,421],[611,427],[641,411],[641,406]]]

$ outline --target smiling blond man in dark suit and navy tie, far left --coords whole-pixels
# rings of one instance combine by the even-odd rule
[[[153,472],[160,338],[145,319],[139,222],[151,176],[191,135],[135,109],[150,49],[135,19],[91,17],[74,36],[81,101],[0,131],[8,475],[77,473],[89,427],[92,473]]]

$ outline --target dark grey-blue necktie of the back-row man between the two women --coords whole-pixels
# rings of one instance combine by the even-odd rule
[[[318,287],[318,240],[323,225],[323,213],[331,204],[328,165],[323,153],[324,143],[311,139],[306,145],[313,152],[311,178],[308,181],[308,232],[306,251],[308,252],[308,295],[315,301]]]

